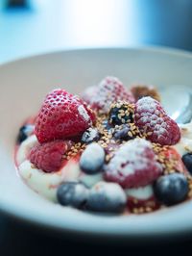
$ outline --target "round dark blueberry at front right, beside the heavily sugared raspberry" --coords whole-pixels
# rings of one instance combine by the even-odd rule
[[[181,173],[161,176],[154,185],[156,199],[169,206],[183,201],[188,193],[188,183]]]

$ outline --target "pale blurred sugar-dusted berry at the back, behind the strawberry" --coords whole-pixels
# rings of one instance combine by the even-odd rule
[[[92,109],[108,114],[110,105],[117,100],[134,102],[132,92],[127,90],[116,77],[106,77],[98,87],[91,87],[84,91],[84,100]]]

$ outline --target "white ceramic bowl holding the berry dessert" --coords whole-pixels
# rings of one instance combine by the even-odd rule
[[[108,237],[158,237],[192,232],[192,201],[142,216],[102,216],[60,207],[30,190],[13,161],[16,134],[54,88],[80,92],[106,75],[125,85],[192,85],[192,55],[166,49],[90,49],[56,52],[0,66],[0,209],[63,232]],[[174,98],[174,91],[173,91]],[[172,104],[172,98],[170,98]]]

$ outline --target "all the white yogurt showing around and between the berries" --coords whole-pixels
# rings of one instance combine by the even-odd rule
[[[187,124],[180,124],[180,141],[173,147],[178,150],[180,156],[187,152],[192,152],[192,121]],[[36,192],[47,199],[56,201],[57,188],[64,181],[82,181],[88,188],[93,187],[103,181],[103,174],[87,175],[81,171],[77,158],[70,159],[60,171],[46,173],[34,167],[27,156],[31,148],[37,144],[36,136],[32,135],[23,141],[16,154],[16,162],[21,177]],[[146,187],[126,190],[126,194],[138,199],[148,199],[153,195],[151,185]]]

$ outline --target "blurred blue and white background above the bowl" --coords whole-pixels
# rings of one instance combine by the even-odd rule
[[[0,0],[0,63],[60,49],[192,50],[191,0]]]

